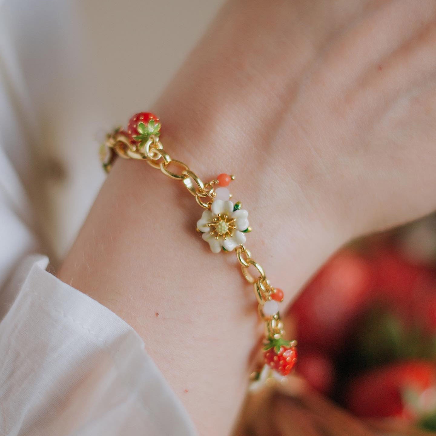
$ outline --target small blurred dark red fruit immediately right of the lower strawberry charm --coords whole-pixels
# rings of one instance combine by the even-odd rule
[[[334,365],[324,354],[302,352],[298,356],[297,372],[318,392],[328,394],[334,384]]]

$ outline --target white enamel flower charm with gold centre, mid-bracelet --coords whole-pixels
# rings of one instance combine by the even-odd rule
[[[233,205],[232,201],[215,199],[211,210],[205,210],[197,222],[202,238],[209,242],[212,252],[219,253],[221,248],[232,251],[245,242],[245,233],[249,230],[248,212]]]

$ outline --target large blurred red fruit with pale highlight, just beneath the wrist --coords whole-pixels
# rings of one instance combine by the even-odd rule
[[[371,264],[357,253],[344,250],[331,258],[291,308],[300,344],[337,351],[367,307],[372,283]]]

